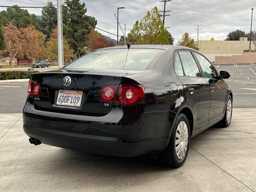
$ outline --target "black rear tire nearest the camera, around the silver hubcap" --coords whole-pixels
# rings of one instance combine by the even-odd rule
[[[182,132],[183,134],[181,134],[183,136],[182,138],[182,142],[180,142],[181,140],[178,139],[178,137],[176,137],[176,133],[178,128],[180,129],[182,127],[182,124],[184,125],[184,123],[186,124],[187,130],[186,128],[184,130],[186,130],[185,132],[187,134],[184,134],[185,132]],[[181,125],[180,125],[181,124]],[[180,130],[178,130],[178,133],[180,132]],[[186,139],[185,136],[186,135]],[[177,141],[176,141],[177,140]],[[186,142],[187,140],[187,142]],[[176,144],[178,143],[178,144]],[[188,148],[189,148],[189,144],[190,144],[190,126],[189,126],[189,122],[188,122],[188,118],[186,117],[185,114],[181,113],[177,116],[175,122],[174,122],[174,126],[172,129],[172,134],[169,140],[169,144],[166,147],[166,149],[164,151],[162,151],[161,153],[158,154],[158,158],[166,165],[170,166],[170,167],[180,167],[182,166],[182,164],[184,164],[187,156],[188,156]],[[184,156],[182,156],[182,148],[180,148],[180,155],[176,154],[176,147],[178,147],[178,145],[180,146],[186,146],[186,152],[184,152]]]

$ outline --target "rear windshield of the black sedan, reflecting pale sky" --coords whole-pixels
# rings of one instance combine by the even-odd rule
[[[145,70],[160,49],[106,49],[90,52],[65,69],[140,69]],[[127,58],[126,58],[127,56]]]

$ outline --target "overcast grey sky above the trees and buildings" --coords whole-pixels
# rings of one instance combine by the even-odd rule
[[[42,6],[42,2],[48,0],[0,0],[0,5],[12,6]],[[56,0],[51,0],[56,4]],[[64,0],[62,0],[64,2]],[[116,34],[117,7],[125,7],[119,10],[119,21],[126,23],[126,34],[130,32],[136,20],[146,15],[147,10],[157,6],[163,10],[164,3],[159,0],[80,0],[85,2],[87,15],[94,16],[98,20],[96,27]],[[34,3],[34,4],[33,4]],[[178,42],[182,34],[188,32],[190,37],[197,40],[196,24],[202,25],[199,32],[199,40],[224,40],[226,35],[236,29],[250,32],[251,8],[254,8],[252,29],[256,28],[256,0],[172,0],[166,3],[166,10],[170,10],[166,16],[165,26],[174,36],[174,44]],[[0,10],[6,8],[0,7]],[[41,15],[41,8],[26,8],[31,14]],[[107,24],[105,24],[106,22]],[[122,25],[122,24],[121,24]],[[98,32],[116,39],[116,36],[98,30]],[[119,31],[119,34],[122,31]]]

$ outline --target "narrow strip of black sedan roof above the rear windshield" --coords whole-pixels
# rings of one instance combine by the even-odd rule
[[[127,48],[127,46],[114,46],[114,47],[106,47],[102,48],[99,50],[105,50],[105,49],[124,49]],[[189,47],[184,47],[184,46],[176,46],[176,45],[131,45],[130,48],[148,48],[148,49],[173,49],[173,50],[178,50],[178,49],[189,49],[189,50],[194,50]],[[196,50],[194,50],[196,51]]]

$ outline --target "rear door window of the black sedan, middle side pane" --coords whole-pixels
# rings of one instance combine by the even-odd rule
[[[190,51],[180,51],[180,59],[186,76],[201,77],[200,71]]]

